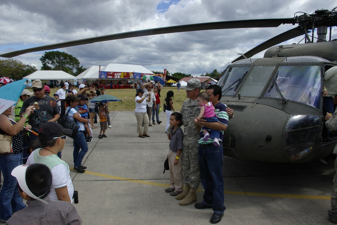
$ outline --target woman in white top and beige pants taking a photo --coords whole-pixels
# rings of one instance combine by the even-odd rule
[[[145,138],[145,137],[150,137],[150,135],[147,134],[148,131],[148,126],[149,126],[149,117],[146,113],[146,106],[147,102],[151,101],[151,98],[144,95],[144,90],[142,88],[137,89],[136,97],[135,97],[135,102],[136,102],[136,109],[134,110],[134,114],[137,119],[137,132],[138,132],[138,137],[140,138]],[[142,131],[142,123],[144,123],[144,130]]]

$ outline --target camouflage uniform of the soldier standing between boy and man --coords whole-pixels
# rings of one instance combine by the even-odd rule
[[[197,80],[197,79],[191,79]],[[200,84],[200,81],[198,81]],[[199,132],[195,129],[193,119],[200,113],[200,107],[196,101],[192,104],[191,99],[186,99],[181,106],[180,113],[182,121],[179,125],[184,125],[183,149],[181,151],[181,163],[183,167],[183,182],[189,184],[191,188],[197,189],[200,185],[200,170],[198,161],[198,140]],[[171,134],[170,128],[167,134]]]

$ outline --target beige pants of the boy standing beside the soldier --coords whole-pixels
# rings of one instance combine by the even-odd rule
[[[174,165],[177,153],[171,149],[168,151],[168,166],[170,167],[170,184],[171,188],[177,191],[183,190],[183,167],[181,166],[181,159],[178,160],[178,164]]]

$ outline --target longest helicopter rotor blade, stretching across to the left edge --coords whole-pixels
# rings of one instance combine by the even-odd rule
[[[9,53],[1,54],[1,57],[11,58],[14,56],[22,55],[29,52],[39,52],[45,50],[52,50],[58,48],[71,47],[76,45],[85,45],[100,41],[117,40],[130,37],[141,37],[156,34],[178,33],[187,31],[199,31],[199,30],[216,30],[216,29],[232,29],[232,28],[255,28],[255,27],[278,27],[281,24],[295,24],[294,18],[283,19],[259,19],[259,20],[238,20],[238,21],[221,21],[211,23],[200,24],[188,24],[170,27],[160,27],[146,30],[137,30],[124,33],[110,34],[98,37],[90,37],[79,40],[66,41],[63,43],[45,45],[40,47],[34,47],[24,50],[13,51]]]

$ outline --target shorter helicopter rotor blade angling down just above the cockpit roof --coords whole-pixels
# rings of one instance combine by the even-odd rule
[[[309,30],[307,30],[307,33],[310,33]],[[269,40],[266,40],[264,43],[256,46],[255,48],[249,50],[248,52],[244,53],[243,55],[247,58],[250,58],[252,57],[253,55],[259,53],[259,52],[262,52],[263,50],[266,50],[274,45],[277,45],[279,43],[282,43],[283,41],[286,41],[286,40],[289,40],[289,39],[292,39],[294,37],[298,37],[298,36],[301,36],[305,34],[305,30],[304,29],[300,29],[300,27],[295,27],[291,30],[287,30],[275,37],[272,37],[270,38]],[[238,58],[236,58],[233,62],[236,62],[238,60],[241,60],[241,59],[245,59],[244,56],[239,56]]]

